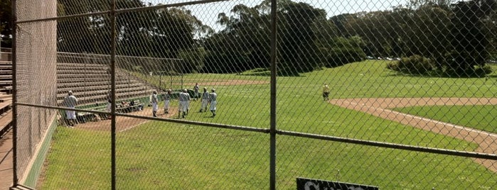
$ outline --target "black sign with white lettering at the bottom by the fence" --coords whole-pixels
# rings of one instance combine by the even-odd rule
[[[297,190],[378,190],[378,186],[349,184],[340,181],[296,178]]]

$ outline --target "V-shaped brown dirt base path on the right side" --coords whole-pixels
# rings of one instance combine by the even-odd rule
[[[479,145],[476,152],[494,155],[497,153],[497,134],[390,110],[390,108],[407,106],[497,105],[497,98],[331,99],[329,102],[343,108],[362,111],[404,125],[476,143]],[[474,160],[491,171],[497,172],[496,160]]]

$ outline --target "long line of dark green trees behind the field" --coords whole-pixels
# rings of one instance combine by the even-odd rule
[[[2,4],[6,0],[0,0]],[[105,1],[58,1],[58,16],[106,11]],[[117,9],[151,6],[118,0]],[[344,13],[328,18],[324,9],[279,0],[277,62],[280,74],[296,75],[338,67],[366,57],[426,57],[431,69],[467,72],[497,55],[496,0],[451,3],[416,0],[387,11]],[[0,11],[3,14],[5,11]],[[4,19],[2,19],[4,21]],[[117,15],[117,54],[183,59],[183,73],[234,73],[268,68],[270,1],[233,6],[219,13],[214,31],[183,8]],[[6,30],[2,22],[2,34]],[[58,22],[58,51],[109,54],[107,15]],[[7,27],[8,28],[8,27]]]

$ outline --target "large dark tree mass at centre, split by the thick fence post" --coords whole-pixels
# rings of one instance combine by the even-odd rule
[[[271,1],[266,0],[254,7],[234,6],[232,16],[218,15],[218,23],[225,28],[205,40],[207,72],[242,72],[269,67],[270,7]],[[326,12],[309,4],[282,0],[277,14],[280,73],[294,75],[318,67],[315,29],[319,28],[316,23],[326,21]]]

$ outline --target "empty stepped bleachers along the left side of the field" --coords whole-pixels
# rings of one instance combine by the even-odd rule
[[[9,49],[2,48],[0,59],[0,137],[11,129],[12,62]],[[81,62],[57,63],[57,102],[60,104],[68,91],[78,97],[78,106],[107,104],[110,90],[109,67],[105,64]],[[124,69],[116,70],[117,101],[148,97],[155,86],[134,77]]]

